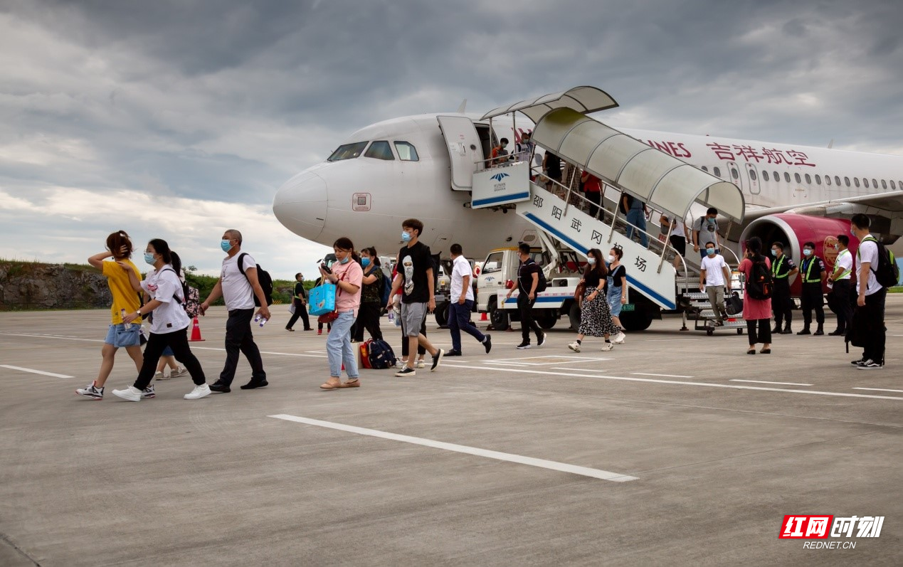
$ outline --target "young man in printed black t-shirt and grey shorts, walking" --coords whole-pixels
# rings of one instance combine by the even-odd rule
[[[430,247],[420,242],[424,223],[416,218],[408,218],[402,223],[401,239],[405,246],[398,252],[398,274],[392,282],[392,292],[402,290],[401,326],[405,333],[408,352],[407,366],[396,372],[396,376],[414,376],[414,354],[417,345],[430,352],[433,357],[432,372],[442,360],[442,349],[436,349],[426,335],[420,332],[426,321],[426,313],[436,309],[435,278],[433,276],[433,256]]]

